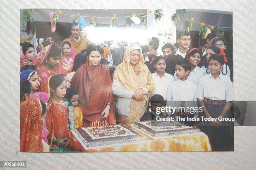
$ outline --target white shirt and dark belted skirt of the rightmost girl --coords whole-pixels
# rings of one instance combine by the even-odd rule
[[[233,86],[230,78],[220,74],[217,79],[214,79],[211,73],[202,76],[197,86],[197,98],[204,100],[211,117],[219,117],[225,102],[233,101]],[[201,116],[204,117],[204,114],[202,113]],[[227,112],[225,117],[233,117],[233,115]],[[233,122],[223,121],[216,129],[208,121],[202,121],[199,127],[208,135],[213,151],[234,150]]]

